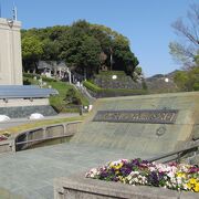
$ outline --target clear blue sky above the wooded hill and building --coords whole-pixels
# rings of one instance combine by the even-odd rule
[[[0,0],[1,17],[11,18],[13,2],[23,29],[72,24],[78,19],[104,24],[127,36],[145,76],[180,69],[168,44],[178,40],[171,23],[186,18],[197,0]]]

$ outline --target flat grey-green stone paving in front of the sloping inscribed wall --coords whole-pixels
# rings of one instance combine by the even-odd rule
[[[53,179],[84,172],[109,160],[133,158],[132,151],[60,144],[0,155],[0,188],[30,199],[52,199]]]

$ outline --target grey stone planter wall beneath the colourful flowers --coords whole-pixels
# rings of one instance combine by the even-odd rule
[[[55,179],[54,198],[62,199],[180,199],[198,198],[198,193],[178,192],[165,188],[129,186],[121,182],[107,182],[86,179],[82,175]],[[62,196],[63,195],[63,196]]]

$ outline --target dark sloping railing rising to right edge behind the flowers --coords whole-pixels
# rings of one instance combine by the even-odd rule
[[[157,161],[157,160],[163,160],[165,158],[167,158],[166,160],[163,160],[161,163],[169,163],[169,161],[177,161],[179,163],[180,158],[184,157],[186,154],[191,153],[191,151],[197,151],[199,147],[199,142],[196,142],[196,144],[193,144],[190,147],[180,149],[180,150],[176,150],[176,151],[171,151],[168,154],[164,154],[154,158],[149,158],[147,159],[148,161]],[[175,157],[174,157],[175,156]]]

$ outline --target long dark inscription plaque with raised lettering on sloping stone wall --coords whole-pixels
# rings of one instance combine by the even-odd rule
[[[177,109],[98,111],[94,122],[174,124]]]

